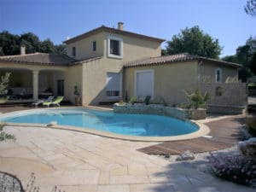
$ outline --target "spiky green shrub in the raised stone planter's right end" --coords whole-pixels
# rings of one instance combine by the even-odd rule
[[[210,96],[207,92],[204,95],[201,95],[199,89],[195,89],[195,92],[192,90],[185,90],[185,94],[191,103],[192,108],[206,108],[207,101],[210,100]]]

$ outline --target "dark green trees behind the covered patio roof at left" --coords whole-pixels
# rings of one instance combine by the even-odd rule
[[[32,32],[26,32],[19,35],[13,35],[8,31],[0,32],[0,55],[19,55],[20,46],[26,46],[26,53],[52,53],[66,54],[65,44],[55,45],[49,38],[40,41],[37,35]]]

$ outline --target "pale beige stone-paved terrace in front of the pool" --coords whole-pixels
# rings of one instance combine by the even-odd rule
[[[17,140],[0,143],[0,170],[20,178],[31,172],[40,192],[253,192],[207,172],[207,160],[170,162],[137,151],[157,143],[129,142],[76,131],[5,126]]]

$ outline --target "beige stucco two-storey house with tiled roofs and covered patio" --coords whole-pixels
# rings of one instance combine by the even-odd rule
[[[186,102],[183,90],[204,84],[237,84],[237,64],[179,54],[161,56],[165,40],[100,26],[70,38],[67,55],[43,53],[0,57],[0,75],[11,73],[12,94],[32,97],[63,95],[74,102],[78,86],[82,105],[143,100]],[[22,97],[20,96],[20,97]],[[19,99],[19,98],[18,98]]]

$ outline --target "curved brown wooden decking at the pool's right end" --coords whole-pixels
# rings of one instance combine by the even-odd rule
[[[185,150],[193,153],[207,151],[216,151],[224,148],[230,148],[242,140],[243,133],[241,125],[245,119],[240,116],[221,119],[206,123],[211,132],[208,137],[200,137],[176,142],[165,142],[152,145],[146,148],[140,148],[139,151],[145,154],[183,154]]]

